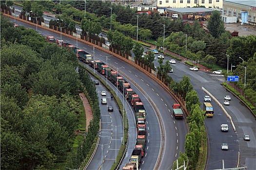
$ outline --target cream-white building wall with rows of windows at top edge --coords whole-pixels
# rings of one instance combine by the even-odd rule
[[[167,8],[192,8],[193,6],[205,6],[205,8],[222,9],[223,0],[158,0],[158,7]]]

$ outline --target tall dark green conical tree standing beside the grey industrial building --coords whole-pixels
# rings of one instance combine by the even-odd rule
[[[212,13],[208,20],[207,29],[215,38],[218,38],[222,33],[225,33],[224,21],[218,11]]]

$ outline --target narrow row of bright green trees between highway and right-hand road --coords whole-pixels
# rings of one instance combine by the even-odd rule
[[[190,114],[187,118],[190,133],[186,135],[185,153],[179,153],[178,166],[180,167],[183,165],[183,161],[185,161],[186,164],[187,161],[189,161],[188,168],[195,169],[199,157],[199,148],[201,146],[201,128],[204,125],[205,112],[200,108],[201,102],[199,102],[197,92],[193,90],[193,86],[190,84],[190,78],[188,76],[183,76],[179,83],[173,82],[170,85],[170,88],[182,95],[182,98],[186,101],[186,108]],[[176,163],[174,163],[173,168],[177,168],[176,166]]]

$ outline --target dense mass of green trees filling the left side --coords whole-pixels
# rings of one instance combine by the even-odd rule
[[[76,72],[74,52],[48,43],[32,29],[13,27],[2,15],[0,22],[1,168],[54,169],[66,161],[73,167],[74,132],[84,114],[78,98],[81,80],[96,93],[94,83]],[[89,95],[93,103],[98,101],[97,94]],[[100,113],[97,104],[94,113]],[[99,116],[95,117],[85,142],[80,142],[87,148],[84,155],[95,138]]]

